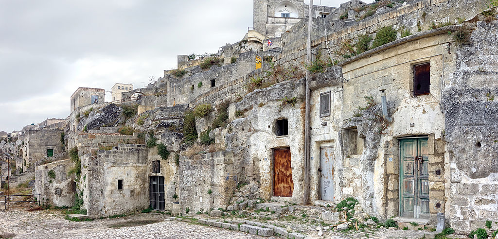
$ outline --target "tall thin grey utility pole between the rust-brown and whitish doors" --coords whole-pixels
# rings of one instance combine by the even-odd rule
[[[306,64],[311,65],[311,23],[313,12],[313,0],[310,0],[308,11],[308,42],[306,51]],[[308,204],[309,190],[310,190],[310,89],[309,89],[309,70],[306,71],[306,108],[304,114],[304,199],[303,204]]]

